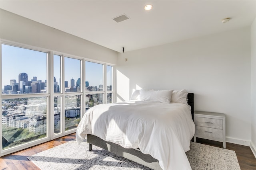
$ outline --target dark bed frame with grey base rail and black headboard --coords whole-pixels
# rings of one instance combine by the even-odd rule
[[[194,93],[188,93],[188,104],[191,106],[192,119],[194,119]],[[143,154],[140,149],[125,149],[120,145],[106,142],[99,137],[90,134],[87,134],[87,143],[89,143],[89,150],[92,150],[92,145],[95,145],[151,169],[162,170],[157,159],[149,154]]]

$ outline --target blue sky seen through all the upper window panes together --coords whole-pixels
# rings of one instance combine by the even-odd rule
[[[80,60],[65,57],[64,59],[64,75],[65,81],[70,85],[70,79],[76,81],[80,78]],[[10,85],[10,80],[14,79],[18,82],[20,73],[28,74],[28,80],[46,80],[47,76],[47,53],[33,51],[24,48],[14,47],[2,44],[2,88],[5,85]],[[111,68],[107,67],[108,83],[112,82]],[[103,65],[86,61],[86,81],[90,86],[99,86],[103,83]],[[60,56],[54,55],[54,76],[59,82],[60,78]]]

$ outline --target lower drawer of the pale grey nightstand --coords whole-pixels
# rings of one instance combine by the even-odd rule
[[[204,137],[223,139],[223,130],[209,128],[209,127],[196,126],[196,135],[198,137],[204,136]]]

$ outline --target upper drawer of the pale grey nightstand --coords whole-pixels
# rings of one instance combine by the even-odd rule
[[[202,127],[211,127],[215,129],[223,129],[223,120],[207,117],[196,117],[196,125]]]

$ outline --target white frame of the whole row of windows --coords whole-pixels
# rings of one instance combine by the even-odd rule
[[[71,133],[76,132],[76,128],[70,129],[68,131],[65,131],[65,119],[64,119],[64,114],[65,114],[65,96],[73,96],[73,95],[80,95],[81,96],[81,103],[80,103],[80,119],[84,116],[84,113],[86,111],[85,108],[85,96],[86,94],[103,94],[103,104],[107,103],[107,94],[112,93],[112,102],[116,101],[116,85],[115,85],[115,64],[111,63],[106,63],[102,61],[96,61],[93,59],[87,59],[84,57],[78,57],[75,55],[70,55],[58,51],[52,51],[40,47],[35,47],[32,45],[26,45],[23,43],[17,43],[5,39],[0,39],[0,65],[2,66],[2,44],[5,45],[11,45],[14,47],[20,47],[24,49],[29,49],[29,50],[34,50],[34,51],[41,51],[47,53],[47,92],[46,93],[34,93],[34,94],[8,94],[8,95],[3,95],[2,94],[2,88],[0,89],[0,107],[2,110],[2,99],[8,99],[8,98],[30,98],[30,97],[46,97],[47,98],[47,134],[46,137],[42,139],[36,139],[34,141],[30,141],[28,143],[24,143],[21,145],[17,145],[14,147],[10,147],[8,149],[2,149],[2,114],[0,115],[1,123],[0,123],[0,156],[4,156],[6,154],[10,154],[12,152],[17,152],[22,149],[26,149],[28,147],[32,147],[35,145],[39,145],[41,143],[69,135]],[[61,78],[61,89],[60,92],[54,93],[54,55],[59,55],[60,56],[60,78]],[[64,73],[65,73],[65,68],[64,68],[64,57],[69,57],[72,59],[79,59],[80,60],[80,92],[65,92],[65,79],[64,79]],[[98,64],[103,64],[103,91],[96,91],[96,92],[86,92],[86,87],[85,87],[85,62],[93,62],[93,63],[98,63]],[[112,66],[112,90],[107,91],[107,65]],[[2,69],[0,69],[0,75],[2,75]],[[2,78],[0,78],[0,84],[2,86]],[[60,126],[60,133],[54,133],[54,97],[55,96],[60,96],[61,100],[61,126]]]

